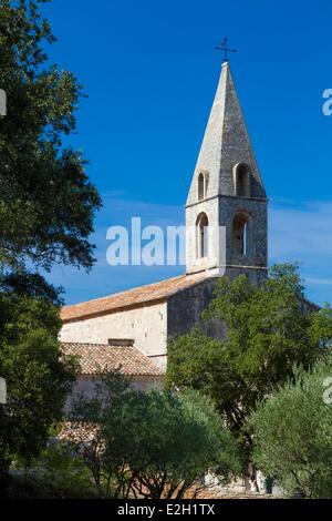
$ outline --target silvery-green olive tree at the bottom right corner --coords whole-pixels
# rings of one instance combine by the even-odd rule
[[[270,399],[249,419],[253,460],[282,490],[305,498],[332,498],[332,403],[324,400],[332,375],[332,351],[312,370],[294,368]]]

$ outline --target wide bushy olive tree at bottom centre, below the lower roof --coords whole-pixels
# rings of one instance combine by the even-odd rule
[[[107,375],[94,398],[81,397],[73,418],[76,450],[100,493],[183,498],[207,487],[207,472],[227,482],[240,471],[231,435],[197,391],[114,391]]]

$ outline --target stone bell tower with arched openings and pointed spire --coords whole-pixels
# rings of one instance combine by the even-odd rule
[[[215,101],[186,203],[187,274],[247,274],[259,284],[268,266],[268,200],[229,63]]]

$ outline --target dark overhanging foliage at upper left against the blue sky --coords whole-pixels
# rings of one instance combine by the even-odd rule
[[[90,267],[93,214],[101,205],[81,152],[63,150],[75,131],[81,85],[46,65],[53,43],[40,1],[0,0],[0,263],[13,272],[54,263]]]

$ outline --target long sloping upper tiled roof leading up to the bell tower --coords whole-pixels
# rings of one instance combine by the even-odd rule
[[[61,319],[71,321],[90,316],[116,311],[127,307],[138,307],[143,304],[164,300],[170,295],[176,294],[187,287],[190,287],[206,278],[205,273],[195,275],[181,275],[179,277],[168,278],[160,283],[141,286],[123,293],[116,293],[108,297],[89,300],[86,303],[65,306],[61,310]]]

